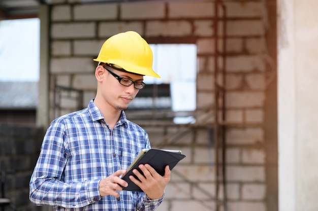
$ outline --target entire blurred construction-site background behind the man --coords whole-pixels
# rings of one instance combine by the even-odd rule
[[[187,157],[157,210],[317,210],[315,0],[0,0],[3,210],[28,200],[46,128],[87,107],[102,44],[134,30],[162,79],[125,111]],[[10,201],[8,201],[10,200]],[[10,206],[11,205],[11,206]]]

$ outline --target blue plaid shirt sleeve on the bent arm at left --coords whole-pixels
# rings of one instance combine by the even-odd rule
[[[44,136],[41,153],[29,184],[29,199],[36,205],[83,207],[100,200],[100,180],[61,181],[68,157],[65,126],[52,122]]]

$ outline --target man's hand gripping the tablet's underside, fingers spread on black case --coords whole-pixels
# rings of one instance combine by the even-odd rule
[[[129,177],[131,181],[138,185],[150,199],[161,198],[164,195],[165,188],[170,181],[171,171],[169,169],[169,165],[165,168],[164,176],[158,174],[149,164],[140,164],[138,167],[144,175],[142,175],[137,169],[134,169],[133,173],[140,181],[138,181],[133,175]]]

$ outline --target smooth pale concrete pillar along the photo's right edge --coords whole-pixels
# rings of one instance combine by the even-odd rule
[[[318,210],[318,1],[277,0],[279,210]]]

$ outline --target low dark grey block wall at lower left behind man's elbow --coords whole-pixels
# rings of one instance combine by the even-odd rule
[[[19,211],[38,209],[28,199],[28,184],[43,135],[42,128],[0,124],[0,169],[7,172],[5,194]],[[6,207],[6,210],[12,209]]]

